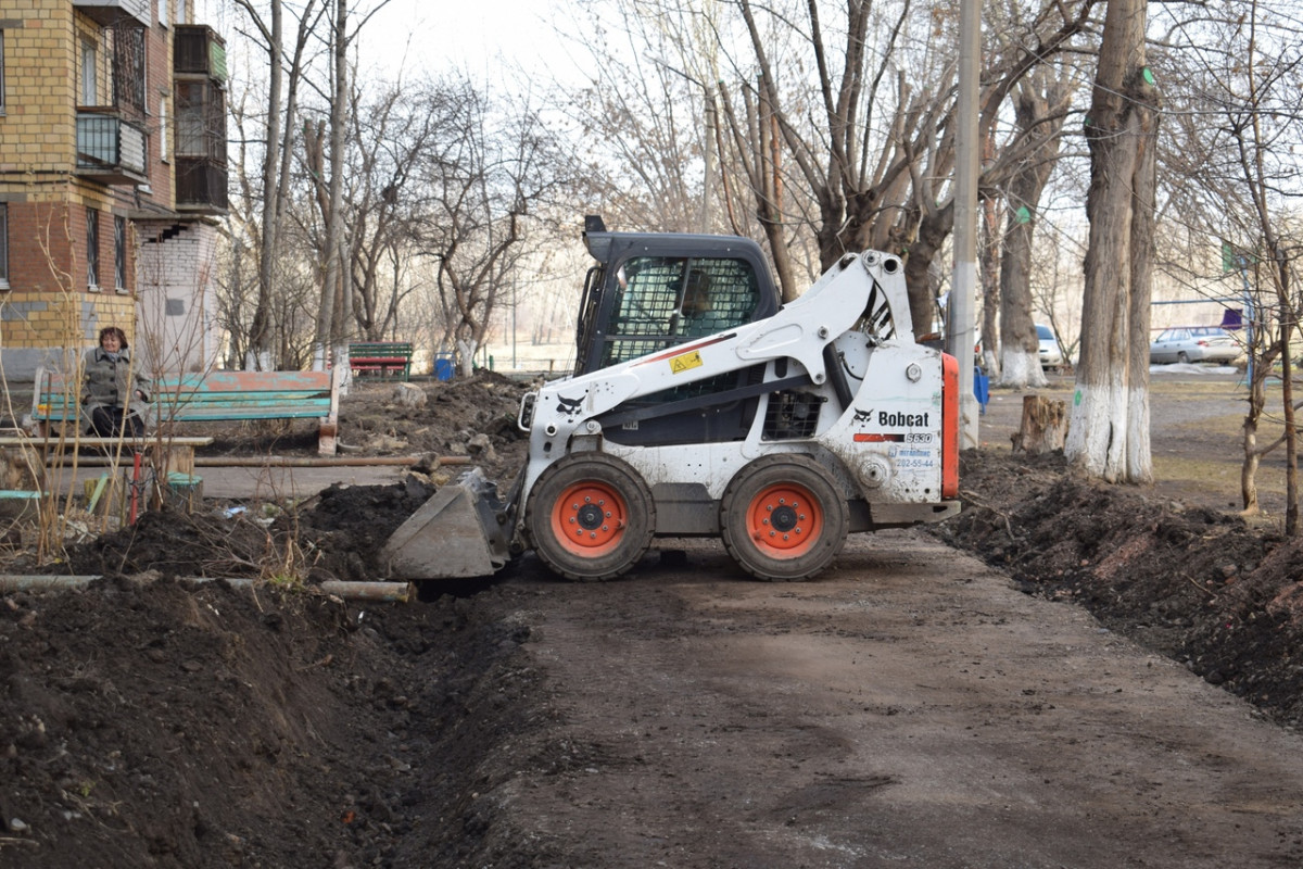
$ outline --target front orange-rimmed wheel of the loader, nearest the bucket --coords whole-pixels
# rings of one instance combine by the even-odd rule
[[[545,470],[525,504],[525,532],[538,558],[568,580],[597,582],[627,572],[646,554],[655,503],[628,463],[573,453]]]

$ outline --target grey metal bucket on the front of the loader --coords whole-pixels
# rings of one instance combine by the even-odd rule
[[[472,468],[408,517],[380,551],[391,577],[452,580],[491,576],[511,555],[509,503]]]

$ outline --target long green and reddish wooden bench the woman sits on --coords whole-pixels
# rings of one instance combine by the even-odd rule
[[[341,369],[334,371],[210,371],[155,378],[151,425],[245,420],[319,420],[317,451],[335,455]],[[38,370],[31,421],[39,436],[53,422],[78,422],[81,384]]]

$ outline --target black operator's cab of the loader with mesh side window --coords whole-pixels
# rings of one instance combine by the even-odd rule
[[[575,374],[773,317],[778,287],[751,238],[607,232],[589,218],[597,264],[580,305]]]

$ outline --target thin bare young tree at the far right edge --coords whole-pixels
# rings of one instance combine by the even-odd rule
[[[1166,155],[1173,197],[1191,235],[1205,249],[1222,245],[1224,270],[1244,283],[1250,302],[1248,408],[1240,472],[1246,513],[1257,513],[1257,473],[1268,453],[1283,448],[1286,533],[1299,533],[1298,466],[1293,395],[1298,340],[1298,165],[1303,138],[1303,27],[1283,9],[1256,0],[1208,4],[1173,27],[1169,52],[1175,99],[1174,143]],[[1282,425],[1267,412],[1268,378],[1281,371]]]

